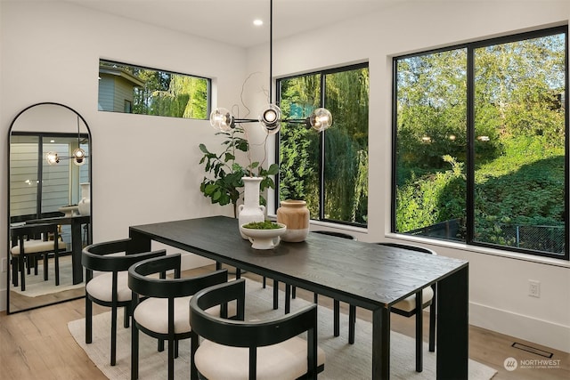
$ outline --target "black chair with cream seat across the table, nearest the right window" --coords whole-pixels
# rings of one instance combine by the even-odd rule
[[[409,251],[418,252],[421,254],[436,255],[436,252],[429,248],[412,246],[409,244],[401,243],[375,243],[385,247],[395,247],[407,249]],[[395,303],[390,308],[390,311],[395,314],[403,315],[404,317],[416,316],[416,371],[423,370],[423,311],[429,306],[429,352],[436,351],[436,290],[437,284],[430,287],[424,287],[420,292],[415,295],[403,299],[399,303]],[[421,307],[416,307],[421,304]],[[348,311],[348,340],[354,343],[354,323],[356,321],[356,306],[350,305]]]

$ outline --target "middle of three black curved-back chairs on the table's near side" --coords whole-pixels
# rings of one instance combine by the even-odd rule
[[[129,268],[128,286],[133,291],[131,379],[139,376],[139,330],[158,339],[159,352],[164,351],[164,342],[168,342],[168,379],[174,379],[178,342],[192,338],[191,352],[199,344],[191,335],[189,303],[192,295],[227,279],[227,270],[182,278],[180,254],[144,260]],[[220,311],[224,309],[209,312],[219,315]]]

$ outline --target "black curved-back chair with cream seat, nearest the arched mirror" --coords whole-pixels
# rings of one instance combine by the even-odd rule
[[[110,307],[110,365],[117,358],[117,315],[123,307],[123,326],[130,326],[133,292],[128,287],[128,269],[141,260],[166,255],[165,250],[131,254],[131,239],[119,239],[85,247],[81,263],[85,267],[85,344],[93,342],[93,303]]]

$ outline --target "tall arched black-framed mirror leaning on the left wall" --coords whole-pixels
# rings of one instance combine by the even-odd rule
[[[63,104],[23,109],[9,133],[7,312],[13,313],[85,296],[81,250],[92,241],[92,157],[89,126]],[[39,231],[45,224],[57,229]],[[19,240],[22,231],[28,233]],[[47,253],[33,254],[42,249]]]

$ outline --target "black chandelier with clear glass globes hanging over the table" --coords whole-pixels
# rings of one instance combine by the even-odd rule
[[[307,129],[313,128],[322,132],[332,125],[332,115],[328,109],[314,109],[309,117],[302,119],[281,119],[281,109],[273,101],[273,0],[269,1],[269,105],[263,109],[259,117],[236,118],[228,109],[217,108],[210,113],[210,125],[216,130],[230,132],[236,124],[255,123],[264,128],[267,134],[278,133],[281,123],[302,124]]]

